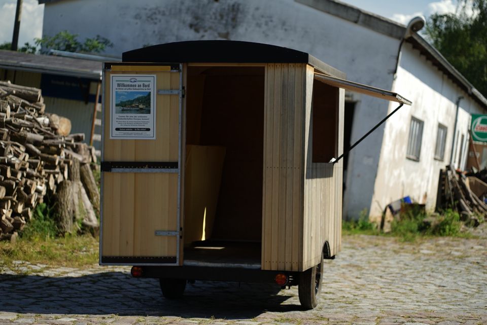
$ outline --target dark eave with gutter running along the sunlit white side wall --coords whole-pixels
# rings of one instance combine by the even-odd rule
[[[470,97],[476,100],[480,105],[487,109],[487,98],[485,98],[468,80],[465,78],[447,59],[431,44],[426,42],[418,34],[413,34],[406,42],[411,43],[413,48],[418,49],[421,54],[425,55],[433,65],[438,67],[446,76],[453,80],[463,90],[465,90]]]

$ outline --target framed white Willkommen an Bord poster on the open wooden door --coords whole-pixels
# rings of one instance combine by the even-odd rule
[[[156,76],[112,75],[111,139],[156,138]]]

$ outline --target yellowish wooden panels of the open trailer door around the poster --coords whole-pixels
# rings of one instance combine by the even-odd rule
[[[156,89],[179,89],[178,73],[154,73]],[[103,161],[178,161],[179,96],[156,95],[156,140],[110,139],[110,79],[107,73]],[[103,172],[102,255],[176,256],[176,237],[154,231],[178,230],[177,190],[175,173]]]

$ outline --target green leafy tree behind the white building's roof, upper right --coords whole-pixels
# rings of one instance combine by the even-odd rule
[[[460,0],[455,14],[431,15],[425,32],[433,46],[487,96],[487,0]]]

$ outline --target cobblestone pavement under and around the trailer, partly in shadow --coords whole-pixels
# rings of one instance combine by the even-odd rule
[[[5,324],[487,324],[487,239],[344,236],[326,262],[321,304],[297,289],[196,282],[165,300],[154,279],[125,267],[50,269],[18,262],[0,275]],[[19,275],[27,272],[28,275]]]

